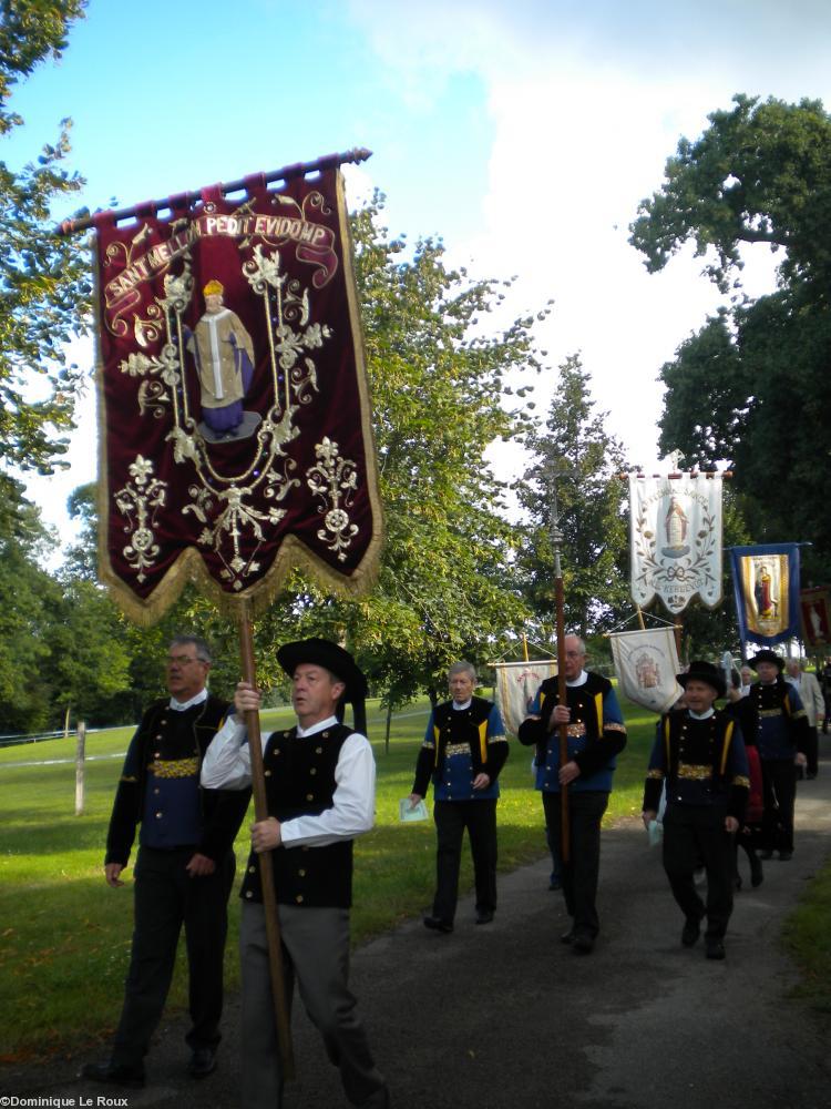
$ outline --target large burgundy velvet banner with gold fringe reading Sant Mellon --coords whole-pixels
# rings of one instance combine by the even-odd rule
[[[380,501],[340,172],[94,224],[101,576],[152,622],[195,578],[261,610],[371,581]]]

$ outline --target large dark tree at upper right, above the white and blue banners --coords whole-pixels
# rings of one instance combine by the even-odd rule
[[[661,369],[661,447],[727,460],[756,541],[807,540],[806,577],[831,574],[831,116],[819,101],[737,96],[683,139],[632,242],[652,271],[687,241],[732,297]],[[781,257],[778,288],[741,293],[742,250]]]

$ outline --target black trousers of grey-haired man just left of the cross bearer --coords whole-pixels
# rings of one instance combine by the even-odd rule
[[[496,908],[496,798],[437,801],[433,820],[438,838],[433,916],[451,924],[455,916],[465,828],[473,856],[476,909],[493,912]]]

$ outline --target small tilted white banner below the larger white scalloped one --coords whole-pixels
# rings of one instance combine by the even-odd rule
[[[618,631],[609,639],[619,692],[653,712],[668,712],[684,692],[675,678],[681,668],[673,629]]]

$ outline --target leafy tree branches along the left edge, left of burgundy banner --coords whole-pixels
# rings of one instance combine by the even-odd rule
[[[22,124],[9,100],[48,57],[59,57],[85,0],[0,2],[0,136]],[[80,369],[66,355],[84,327],[89,261],[54,234],[54,207],[83,184],[64,169],[70,123],[16,171],[0,162],[0,466],[52,472],[65,452]],[[6,475],[0,470],[0,480]]]

